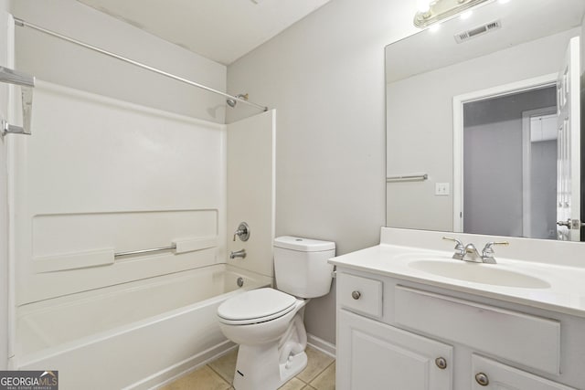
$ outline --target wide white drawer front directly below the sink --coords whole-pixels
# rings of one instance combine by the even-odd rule
[[[402,286],[394,314],[401,327],[560,374],[560,321]]]

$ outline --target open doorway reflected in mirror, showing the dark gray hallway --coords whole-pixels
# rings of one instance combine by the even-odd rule
[[[455,231],[557,237],[554,85],[463,103],[461,153],[463,205],[454,209],[463,217]]]

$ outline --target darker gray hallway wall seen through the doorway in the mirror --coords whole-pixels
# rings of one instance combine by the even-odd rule
[[[556,93],[552,87],[463,106],[465,233],[523,237],[522,113],[555,107]]]

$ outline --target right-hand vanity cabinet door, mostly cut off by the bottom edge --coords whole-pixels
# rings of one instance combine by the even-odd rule
[[[472,366],[472,390],[575,390],[476,354]]]

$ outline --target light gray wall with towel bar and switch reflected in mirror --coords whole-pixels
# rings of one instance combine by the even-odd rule
[[[416,186],[388,184],[389,227],[452,230],[452,194],[435,196],[434,185],[453,181],[453,96],[556,73],[569,37],[579,33],[569,30],[388,84],[388,174],[430,176]]]

